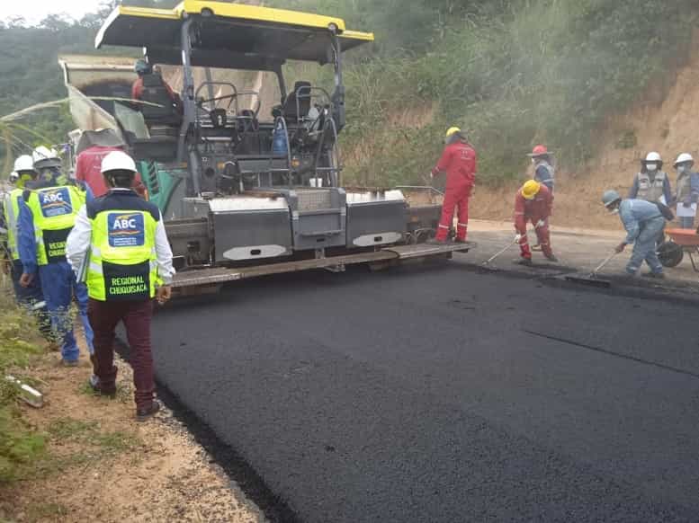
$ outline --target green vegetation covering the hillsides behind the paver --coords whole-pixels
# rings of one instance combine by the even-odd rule
[[[171,5],[175,0],[130,0]],[[336,13],[377,42],[351,53],[345,75],[350,125],[345,182],[419,182],[460,124],[479,150],[481,182],[521,173],[537,142],[574,166],[594,154],[598,130],[653,87],[663,92],[688,57],[699,14],[693,0],[273,0]],[[37,28],[0,26],[9,75],[0,113],[64,95],[56,56],[91,51],[103,13]],[[323,83],[300,69],[307,78]],[[297,73],[300,74],[300,71]],[[36,130],[54,141],[69,129],[50,110]],[[621,146],[630,146],[627,137]],[[27,137],[25,141],[36,141]]]

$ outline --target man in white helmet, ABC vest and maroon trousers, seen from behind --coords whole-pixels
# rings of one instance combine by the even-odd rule
[[[136,387],[136,416],[146,421],[160,410],[154,398],[150,324],[153,298],[171,296],[175,270],[160,210],[131,189],[136,164],[126,153],[104,157],[102,173],[112,188],[80,209],[68,237],[67,257],[78,278],[86,275],[94,327],[98,381],[95,392],[116,394],[114,330],[126,327]]]

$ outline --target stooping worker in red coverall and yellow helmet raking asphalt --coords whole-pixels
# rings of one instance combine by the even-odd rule
[[[551,234],[549,232],[549,217],[553,210],[553,194],[544,184],[530,180],[517,191],[515,197],[515,230],[516,241],[521,249],[519,263],[532,264],[532,250],[526,235],[526,225],[531,222],[536,231],[536,237],[542,246],[542,253],[550,262],[558,262],[551,250]]]

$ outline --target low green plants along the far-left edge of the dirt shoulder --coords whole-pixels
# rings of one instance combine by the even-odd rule
[[[17,390],[4,377],[10,368],[24,368],[40,353],[32,343],[36,332],[30,318],[0,289],[0,483],[13,480],[20,467],[43,454],[44,439],[23,420],[17,408]]]

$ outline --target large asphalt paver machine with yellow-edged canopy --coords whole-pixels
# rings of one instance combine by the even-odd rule
[[[138,101],[133,58],[61,59],[80,128],[113,129],[138,161],[166,218],[175,287],[472,247],[422,243],[438,202],[411,206],[405,190],[341,186],[343,54],[372,40],[335,17],[184,0],[117,7],[96,37],[98,49],[143,50],[153,71]],[[329,68],[332,89],[288,85],[285,70],[304,63]]]

